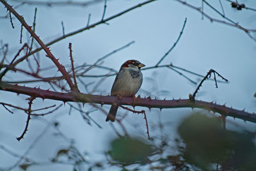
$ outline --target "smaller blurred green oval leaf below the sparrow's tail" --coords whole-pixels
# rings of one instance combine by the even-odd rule
[[[111,145],[110,155],[113,160],[126,163],[146,161],[147,156],[153,152],[151,145],[134,138],[118,138]]]

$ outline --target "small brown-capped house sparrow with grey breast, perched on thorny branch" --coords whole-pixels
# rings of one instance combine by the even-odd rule
[[[111,89],[111,96],[134,96],[142,84],[140,68],[145,66],[136,60],[129,60],[122,64]],[[113,104],[109,110],[106,122],[115,122],[118,105]]]

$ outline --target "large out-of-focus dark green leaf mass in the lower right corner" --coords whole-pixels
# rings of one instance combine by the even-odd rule
[[[223,170],[256,170],[255,133],[227,131],[216,117],[194,114],[178,128],[186,148],[183,158],[203,170],[220,164]]]

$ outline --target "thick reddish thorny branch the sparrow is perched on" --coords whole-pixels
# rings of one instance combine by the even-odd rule
[[[120,100],[116,96],[100,96],[93,94],[83,94],[83,93],[59,93],[49,90],[43,90],[40,88],[31,88],[20,85],[6,84],[4,82],[0,83],[0,90],[10,91],[13,93],[26,94],[28,96],[33,96],[36,98],[58,100],[58,101],[76,101],[82,103],[99,103],[101,105],[112,105],[113,103],[118,103],[120,105],[131,105],[140,106],[148,108],[203,108],[205,110],[211,110],[212,112],[217,112],[221,115],[227,115],[231,117],[236,117],[243,119],[244,121],[250,121],[256,123],[256,114],[251,114],[245,112],[244,110],[236,110],[234,108],[226,107],[225,105],[217,105],[216,103],[206,102],[206,101],[191,101],[190,99],[184,100],[152,100],[151,98],[136,98],[122,97]]]

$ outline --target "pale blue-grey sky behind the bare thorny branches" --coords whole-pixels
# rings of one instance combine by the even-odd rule
[[[138,4],[143,1],[132,0],[112,0],[107,2],[105,18],[115,15],[120,11]],[[249,10],[237,11],[230,8],[230,3],[221,1],[225,10],[225,15],[241,24],[248,29],[255,29],[256,12]],[[256,1],[240,1],[246,6],[256,8]],[[14,5],[14,1],[8,1]],[[192,2],[193,5],[200,7],[201,1]],[[219,1],[211,2],[212,6],[221,11]],[[29,6],[24,5],[17,8],[20,15],[24,17],[28,24],[32,25],[35,7],[37,7],[36,16],[36,34],[48,43],[51,40],[62,35],[61,21],[65,26],[65,33],[76,31],[81,27],[86,26],[88,14],[91,14],[90,24],[98,22],[102,17],[104,2],[93,4],[88,7],[77,6]],[[225,20],[220,15],[205,6],[205,13],[220,20]],[[3,4],[0,5],[0,16],[6,15],[6,9]],[[60,58],[62,64],[70,64],[68,43],[72,43],[73,57],[76,66],[87,63],[93,64],[100,57],[108,54],[116,48],[122,47],[125,44],[135,41],[131,46],[117,52],[113,56],[108,57],[102,63],[102,66],[108,66],[115,70],[119,70],[122,63],[127,59],[137,59],[146,66],[154,66],[159,59],[172,47],[177,40],[184,20],[187,17],[187,23],[184,28],[179,42],[172,52],[162,61],[161,64],[173,63],[175,66],[186,68],[205,75],[211,68],[218,71],[223,77],[229,80],[228,84],[218,84],[218,89],[212,81],[204,82],[201,87],[197,100],[216,101],[218,104],[227,103],[228,107],[242,110],[246,108],[248,112],[256,112],[256,98],[253,94],[256,93],[256,41],[253,41],[244,31],[236,27],[227,26],[216,22],[210,22],[204,18],[198,11],[195,11],[188,6],[184,6],[177,1],[159,0],[153,3],[141,6],[136,10],[132,10],[125,15],[110,20],[107,24],[101,24],[83,33],[70,36],[65,40],[51,45],[51,52],[57,58]],[[3,43],[9,44],[9,61],[13,54],[22,46],[19,44],[20,24],[13,17],[15,29],[12,29],[10,19],[0,19],[0,40]],[[255,33],[252,33],[256,37]],[[24,42],[28,40],[29,34],[23,31]],[[35,46],[34,46],[35,47]],[[2,54],[1,56],[2,57]],[[40,52],[41,66],[52,66],[52,62],[45,57],[43,51]],[[20,68],[28,67],[26,63],[20,64]],[[45,72],[46,77],[52,77],[56,70]],[[105,70],[92,70],[88,74],[105,74]],[[185,73],[189,78],[199,82],[201,78]],[[28,80],[26,75],[15,75],[9,73],[4,80]],[[193,93],[196,85],[191,84],[186,78],[181,77],[168,68],[158,68],[156,70],[143,71],[143,84],[141,89],[149,91],[156,95],[159,99],[172,98],[188,98],[189,93]],[[99,78],[82,78],[84,82],[99,81]],[[115,77],[108,77],[100,84],[96,94],[110,93],[111,86]],[[27,86],[35,87],[38,84],[27,84]],[[43,89],[49,88],[47,84],[40,84]],[[79,84],[81,91],[85,93],[83,85]],[[157,87],[157,89],[154,89]],[[93,86],[89,86],[93,89]],[[168,93],[166,93],[168,92]],[[141,96],[148,96],[144,91],[139,91]],[[17,96],[14,93],[0,91],[0,101],[12,103],[27,107],[25,99],[28,96]],[[35,108],[46,107],[47,105],[55,104],[54,101],[42,100],[35,101]],[[60,103],[56,103],[60,104]],[[43,105],[43,106],[42,106]],[[104,105],[103,108],[108,111],[109,105]],[[91,110],[90,105],[85,105],[84,110]],[[162,121],[170,124],[172,132],[179,124],[182,118],[191,113],[190,108],[175,108],[164,109],[159,113],[158,109],[153,109],[151,112],[148,108],[136,108],[138,110],[146,110],[149,130],[152,131],[152,126],[159,120],[159,115]],[[110,123],[106,123],[106,115],[100,111],[92,112],[90,116],[97,121],[102,129],[92,123],[92,126],[83,121],[79,112],[72,110],[72,114],[68,115],[69,107],[66,105],[54,114],[46,115],[43,118],[47,121],[60,122],[60,130],[68,137],[74,139],[74,143],[81,152],[86,151],[90,160],[104,160],[104,151],[109,146],[108,142],[112,138],[116,138],[116,134],[111,128]],[[15,114],[10,114],[3,107],[0,107],[0,145],[23,154],[31,145],[33,140],[44,130],[45,124],[40,119],[31,119],[29,123],[28,133],[25,139],[17,142],[15,137],[19,137],[26,125],[27,115],[24,112],[13,110]],[[124,110],[118,110],[118,115],[124,115]],[[232,129],[235,122],[241,124],[246,130],[255,131],[256,124],[243,123],[243,121],[232,118],[228,119],[227,128]],[[143,137],[147,139],[145,121],[142,115],[128,113],[125,118],[125,126],[130,135],[135,137]],[[134,125],[138,125],[138,128]],[[114,126],[122,133],[120,126],[114,123]],[[150,127],[151,126],[151,127]],[[35,161],[47,162],[56,154],[56,149],[66,147],[67,142],[59,137],[54,137],[54,129],[49,129],[40,139],[28,156]],[[174,136],[174,135],[173,135]],[[10,154],[0,149],[0,170],[1,168],[10,167],[13,161],[18,158],[13,158]],[[86,168],[86,165],[81,166]],[[28,170],[63,170],[60,165],[47,165],[47,167],[31,167]],[[15,168],[13,170],[19,170]],[[71,170],[71,167],[65,167],[64,170]]]

